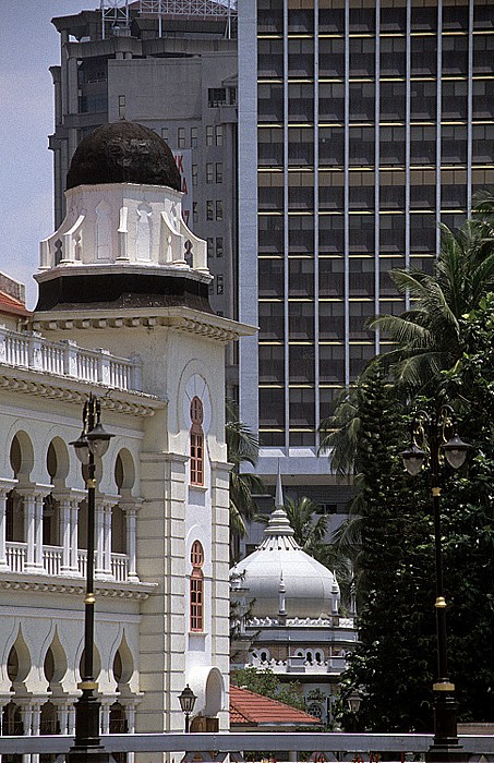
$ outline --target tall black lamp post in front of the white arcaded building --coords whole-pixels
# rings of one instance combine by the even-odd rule
[[[95,494],[96,467],[95,458],[101,458],[108,450],[111,437],[103,428],[100,422],[100,402],[93,393],[84,403],[83,431],[74,443],[75,453],[81,463],[87,467],[87,564],[86,564],[86,595],[84,611],[84,662],[82,681],[79,688],[82,695],[75,703],[75,743],[69,752],[70,763],[108,763],[109,753],[101,747],[99,736],[99,710],[94,677],[94,557],[95,557]]]

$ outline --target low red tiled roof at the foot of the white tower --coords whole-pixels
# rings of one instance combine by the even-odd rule
[[[249,689],[230,686],[230,725],[309,726],[320,718]]]

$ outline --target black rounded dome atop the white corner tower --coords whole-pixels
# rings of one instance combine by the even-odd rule
[[[67,174],[67,189],[99,183],[167,185],[181,190],[180,172],[165,141],[135,122],[110,122],[79,145]]]

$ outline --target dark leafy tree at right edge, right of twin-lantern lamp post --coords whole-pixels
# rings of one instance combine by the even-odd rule
[[[494,294],[461,322],[465,351],[446,375],[473,445],[468,473],[447,484],[444,534],[451,674],[461,716],[494,719]]]

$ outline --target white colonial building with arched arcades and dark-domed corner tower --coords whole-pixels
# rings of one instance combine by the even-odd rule
[[[225,346],[206,243],[182,220],[171,152],[107,124],[76,150],[67,216],[41,242],[36,310],[0,282],[0,704],[3,734],[74,728],[86,486],[70,443],[89,392],[97,460],[95,665],[103,731],[228,727]],[[141,761],[145,756],[141,756]]]

